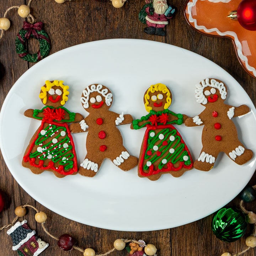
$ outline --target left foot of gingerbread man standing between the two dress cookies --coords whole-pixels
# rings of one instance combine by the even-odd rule
[[[86,155],[85,160],[80,164],[78,173],[82,176],[94,177],[97,174],[97,171],[100,169],[102,161],[103,160],[99,161],[97,159],[96,162],[94,159]]]

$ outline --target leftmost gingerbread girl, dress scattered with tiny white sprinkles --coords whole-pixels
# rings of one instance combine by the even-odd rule
[[[39,94],[46,106],[42,110],[28,109],[24,113],[26,117],[41,120],[41,126],[31,138],[22,160],[22,165],[34,174],[47,170],[62,178],[76,174],[78,170],[75,145],[67,123],[78,122],[83,116],[63,107],[68,100],[68,89],[63,81],[46,81]]]

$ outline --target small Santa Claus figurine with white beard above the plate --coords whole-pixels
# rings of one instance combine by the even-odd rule
[[[145,33],[165,36],[163,28],[174,13],[174,7],[168,6],[166,0],[146,0],[146,5],[139,13],[139,20],[148,25],[144,28]]]

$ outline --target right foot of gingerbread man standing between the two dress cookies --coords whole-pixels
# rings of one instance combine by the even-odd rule
[[[116,158],[111,158],[111,161],[123,171],[129,171],[138,165],[138,158],[131,156],[125,148]]]

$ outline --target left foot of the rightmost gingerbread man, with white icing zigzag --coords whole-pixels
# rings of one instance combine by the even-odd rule
[[[204,150],[203,148],[199,158],[194,161],[194,168],[200,171],[209,171],[213,168],[217,156],[218,154],[210,154],[207,150]]]

